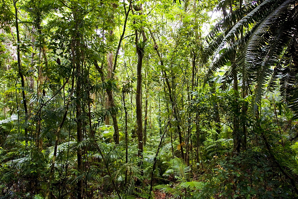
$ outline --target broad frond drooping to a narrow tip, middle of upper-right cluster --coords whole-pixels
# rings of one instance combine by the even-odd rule
[[[263,95],[264,85],[273,72],[272,68],[279,63],[293,35],[286,21],[288,15],[292,14],[293,2],[285,1],[261,21],[248,44],[245,64],[249,68],[249,81],[256,82],[254,91],[256,104],[260,103],[260,96]],[[278,26],[280,28],[276,28]]]

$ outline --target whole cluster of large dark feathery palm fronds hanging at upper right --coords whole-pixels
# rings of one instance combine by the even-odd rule
[[[218,8],[232,3],[221,1]],[[201,65],[206,65],[213,56],[207,77],[229,65],[222,88],[238,74],[243,90],[253,88],[257,110],[266,85],[272,89],[279,84],[285,102],[298,111],[297,3],[297,0],[249,1],[231,10],[206,37],[208,46],[202,53]],[[220,51],[224,52],[216,58]]]

